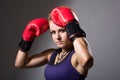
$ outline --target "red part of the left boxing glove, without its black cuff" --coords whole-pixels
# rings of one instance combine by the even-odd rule
[[[37,18],[27,24],[22,37],[25,41],[32,41],[34,37],[41,35],[47,29],[48,21],[45,18]]]

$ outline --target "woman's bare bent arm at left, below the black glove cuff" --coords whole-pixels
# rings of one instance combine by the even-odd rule
[[[48,49],[39,54],[29,56],[28,52],[23,52],[19,49],[15,60],[15,67],[32,68],[47,64],[53,51],[54,49]]]

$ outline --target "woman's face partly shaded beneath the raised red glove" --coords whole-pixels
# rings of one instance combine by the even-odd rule
[[[65,27],[59,27],[51,20],[49,21],[49,26],[52,39],[59,48],[66,48],[72,43],[68,38]]]

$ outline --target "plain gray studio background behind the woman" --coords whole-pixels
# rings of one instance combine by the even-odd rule
[[[16,69],[21,33],[29,20],[46,17],[55,6],[72,7],[94,55],[86,80],[120,80],[120,0],[0,0],[0,80],[44,80],[44,66]],[[36,38],[30,55],[56,47],[49,31]]]

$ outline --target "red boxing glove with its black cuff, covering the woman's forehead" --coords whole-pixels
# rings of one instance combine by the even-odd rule
[[[56,25],[66,28],[71,41],[77,37],[86,37],[86,33],[80,28],[79,22],[70,8],[65,6],[54,8],[50,13],[50,19]]]

